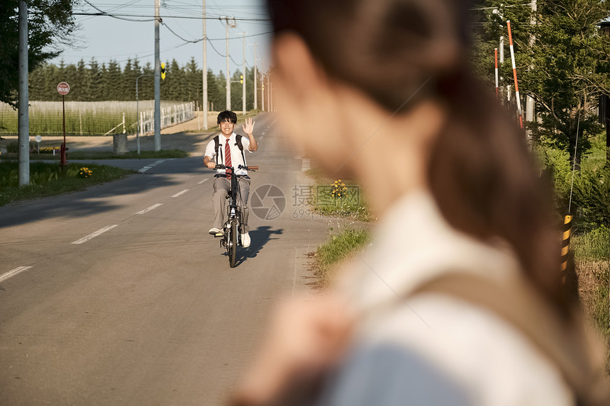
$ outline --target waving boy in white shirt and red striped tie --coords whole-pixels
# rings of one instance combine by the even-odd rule
[[[247,137],[235,134],[235,124],[237,115],[233,111],[222,111],[218,114],[218,128],[221,133],[212,138],[206,146],[204,155],[204,165],[209,169],[214,169],[216,164],[223,164],[228,167],[238,168],[239,165],[246,166],[244,150],[254,152],[258,149],[254,139],[254,124],[252,118],[247,118],[242,125]],[[222,234],[223,223],[226,215],[226,196],[231,190],[231,176],[237,176],[239,182],[239,205],[243,211],[243,224],[241,225],[241,242],[243,247],[250,247],[250,235],[248,231],[248,195],[250,194],[250,176],[245,169],[236,169],[235,173],[230,170],[216,169],[214,175],[214,192],[212,193],[212,205],[214,208],[214,227],[211,227],[211,235]]]

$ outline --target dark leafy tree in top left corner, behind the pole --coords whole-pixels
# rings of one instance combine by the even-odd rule
[[[28,68],[60,55],[75,28],[75,0],[28,0]],[[18,0],[0,1],[0,102],[17,106]]]

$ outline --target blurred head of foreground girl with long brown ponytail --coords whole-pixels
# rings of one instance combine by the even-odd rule
[[[549,200],[525,135],[469,73],[469,3],[268,0],[278,110],[326,169],[367,159],[370,140],[387,142],[405,162],[416,158],[409,147],[421,145],[418,162],[445,219],[479,239],[509,242],[533,283],[562,303]],[[431,103],[436,110],[422,107]],[[371,138],[381,118],[401,117],[426,125],[415,135],[405,125],[395,139]],[[357,125],[366,129],[360,137]]]

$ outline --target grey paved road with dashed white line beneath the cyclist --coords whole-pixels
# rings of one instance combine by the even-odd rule
[[[326,237],[326,222],[293,219],[302,162],[274,120],[257,119],[252,190],[274,184],[287,207],[250,215],[234,269],[206,234],[200,158],[0,208],[0,405],[221,403],[273,300],[304,288],[304,254]]]

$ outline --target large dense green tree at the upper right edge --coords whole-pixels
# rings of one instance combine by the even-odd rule
[[[523,73],[523,85],[541,107],[533,135],[567,148],[577,164],[589,138],[601,131],[595,110],[599,95],[610,94],[610,38],[599,35],[598,26],[608,16],[606,1],[540,1],[533,69]]]

